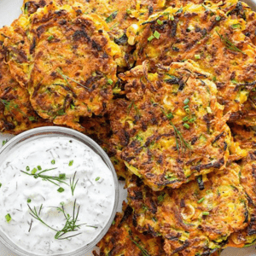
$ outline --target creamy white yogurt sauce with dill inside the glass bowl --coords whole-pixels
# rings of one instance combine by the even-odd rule
[[[26,171],[27,166],[29,171]],[[50,177],[65,173],[67,179],[63,181],[67,184],[54,181],[64,191],[58,192],[59,186],[41,177],[27,175],[32,174],[33,168],[41,169],[35,174],[56,168],[41,173]],[[79,181],[72,195],[70,178],[73,180],[75,172],[74,182]],[[0,166],[0,183],[0,229],[30,253],[70,253],[83,247],[99,235],[113,211],[112,172],[92,149],[68,137],[39,138],[20,145]],[[66,216],[69,214],[73,218],[75,200],[75,216],[80,207],[76,224],[83,225],[78,231],[67,232],[61,238],[81,234],[57,240],[55,230],[62,230],[67,219],[56,207],[63,205]],[[55,230],[33,218],[28,205],[37,212],[43,205],[39,217]],[[9,222],[8,214],[11,217]]]

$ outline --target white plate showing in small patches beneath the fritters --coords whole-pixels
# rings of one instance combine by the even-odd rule
[[[22,2],[23,0],[0,0],[0,27],[10,25],[13,20],[19,17]],[[244,2],[256,10],[256,0],[244,0]],[[0,134],[0,145],[2,144],[2,140],[11,137],[12,136]],[[121,191],[119,202],[125,200],[125,198],[125,191]],[[119,206],[119,210],[120,209],[121,206]],[[9,250],[0,243],[0,256],[15,256],[15,254],[9,252]],[[92,253],[84,256],[92,256]],[[226,248],[224,252],[221,253],[221,256],[256,256],[256,250],[255,246],[242,249]]]

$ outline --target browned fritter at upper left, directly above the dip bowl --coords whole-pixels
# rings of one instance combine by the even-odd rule
[[[32,107],[55,125],[83,131],[79,117],[105,113],[112,99],[119,47],[97,15],[83,15],[68,5],[49,4],[29,20]]]

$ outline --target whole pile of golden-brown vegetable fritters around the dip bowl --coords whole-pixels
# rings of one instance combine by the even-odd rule
[[[256,15],[237,0],[35,0],[0,34],[0,129],[63,125],[128,203],[100,256],[256,241]],[[98,253],[94,252],[95,255]]]

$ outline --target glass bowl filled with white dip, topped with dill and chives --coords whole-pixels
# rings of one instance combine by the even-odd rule
[[[0,150],[0,241],[15,255],[84,255],[118,206],[108,155],[62,127],[26,131]]]

